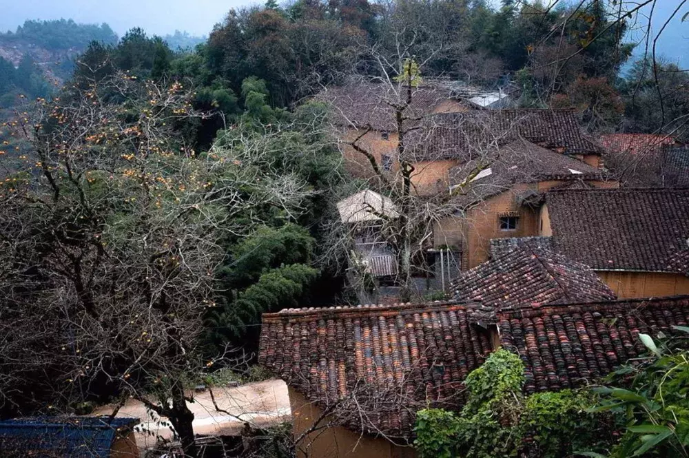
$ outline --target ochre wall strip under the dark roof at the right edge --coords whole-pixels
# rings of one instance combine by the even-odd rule
[[[671,272],[596,271],[618,298],[689,294],[689,278]]]

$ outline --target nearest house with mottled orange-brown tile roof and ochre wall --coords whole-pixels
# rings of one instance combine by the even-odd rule
[[[289,386],[298,456],[415,456],[415,412],[459,410],[462,381],[499,346],[524,362],[525,393],[555,391],[595,382],[645,353],[639,333],[672,334],[689,322],[689,296],[599,300],[584,293],[593,281],[585,276],[584,285],[572,280],[547,293],[560,299],[546,303],[527,292],[494,307],[445,301],[263,315],[259,361]],[[573,290],[584,296],[564,298]]]

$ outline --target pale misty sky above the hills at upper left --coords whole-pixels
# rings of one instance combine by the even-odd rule
[[[74,19],[107,22],[121,37],[132,27],[165,35],[187,30],[207,35],[231,8],[254,0],[0,0],[0,30],[14,31],[25,19]],[[260,3],[264,3],[263,1]]]

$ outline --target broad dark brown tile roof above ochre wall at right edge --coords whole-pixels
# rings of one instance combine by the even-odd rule
[[[677,271],[689,248],[689,189],[546,194],[553,249],[597,270]]]

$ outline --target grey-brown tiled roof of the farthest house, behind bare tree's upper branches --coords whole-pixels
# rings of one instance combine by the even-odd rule
[[[320,92],[316,98],[330,103],[332,120],[345,127],[367,127],[381,131],[395,132],[395,110],[391,103],[400,103],[399,88],[393,90],[382,83],[353,82],[342,86],[330,86]],[[453,100],[462,103],[467,110],[475,110],[471,104],[460,101],[454,96],[451,85],[442,82],[423,83],[412,90],[411,105],[405,110],[405,116],[420,118],[433,113],[440,103]],[[406,93],[402,90],[402,96]],[[415,122],[415,121],[409,121]]]

